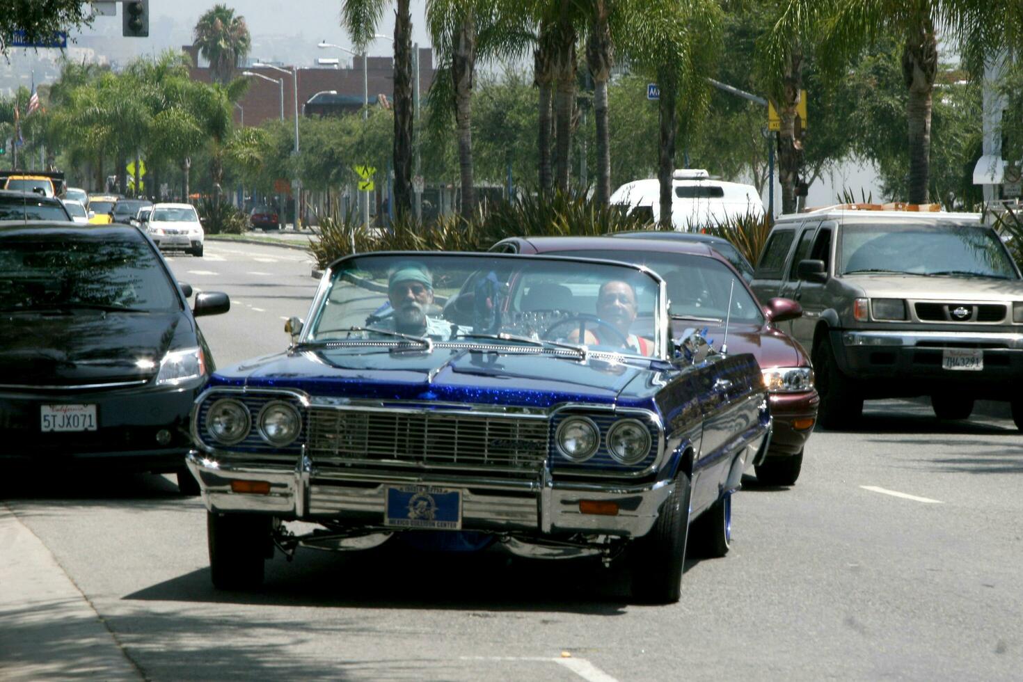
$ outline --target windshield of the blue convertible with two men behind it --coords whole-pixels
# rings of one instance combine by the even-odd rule
[[[338,265],[305,342],[408,336],[663,355],[660,283],[638,268],[534,257],[371,255]],[[404,335],[404,337],[402,336]]]

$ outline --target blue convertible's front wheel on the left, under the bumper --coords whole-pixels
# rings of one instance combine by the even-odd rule
[[[210,574],[218,590],[250,590],[263,584],[263,562],[272,549],[270,517],[206,514]]]

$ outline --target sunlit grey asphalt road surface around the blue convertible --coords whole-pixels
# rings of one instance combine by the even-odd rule
[[[207,254],[172,266],[231,295],[201,319],[218,363],[283,348],[306,257]],[[94,612],[29,585],[31,609],[0,607],[0,678],[1018,680],[1021,443],[1008,420],[869,403],[856,431],[813,435],[793,488],[744,481],[731,552],[688,562],[671,606],[629,604],[624,570],[598,562],[411,550],[300,550],[258,594],[215,592],[204,508],[170,480],[47,479],[6,504]],[[95,613],[127,673],[69,629]]]

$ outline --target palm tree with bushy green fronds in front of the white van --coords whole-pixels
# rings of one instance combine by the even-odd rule
[[[662,229],[671,229],[675,135],[679,127],[683,132],[692,130],[710,102],[707,76],[713,73],[721,49],[723,16],[714,0],[635,2],[642,5],[642,11],[635,13],[633,30],[623,34],[622,47],[632,64],[656,78],[661,89],[657,171],[660,223]],[[683,93],[685,97],[680,99]]]

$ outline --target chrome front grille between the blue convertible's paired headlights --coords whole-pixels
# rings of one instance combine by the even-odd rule
[[[309,410],[317,463],[385,463],[533,471],[547,458],[546,418],[388,410]]]

